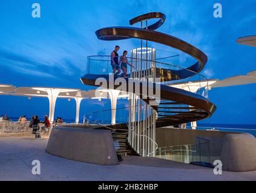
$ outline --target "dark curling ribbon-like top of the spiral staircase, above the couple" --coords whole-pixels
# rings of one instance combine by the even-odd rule
[[[100,40],[123,40],[129,38],[136,38],[161,43],[163,45],[170,46],[171,48],[179,49],[180,51],[183,51],[186,54],[194,57],[197,62],[187,68],[188,70],[190,70],[190,72],[186,71],[186,69],[182,69],[179,71],[172,70],[172,72],[177,74],[180,79],[188,78],[192,75],[195,75],[195,73],[191,71],[201,72],[208,61],[207,56],[202,51],[195,48],[195,46],[192,46],[191,44],[181,39],[178,39],[177,37],[153,31],[159,28],[163,24],[163,22],[165,22],[165,14],[159,12],[143,14],[142,16],[131,19],[130,24],[133,25],[139,21],[153,18],[160,18],[160,20],[155,24],[150,25],[148,29],[134,27],[108,27],[97,30],[96,36]]]

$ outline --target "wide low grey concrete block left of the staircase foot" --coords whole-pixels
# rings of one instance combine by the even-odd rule
[[[54,127],[45,151],[54,156],[81,162],[118,164],[112,134],[107,130]]]

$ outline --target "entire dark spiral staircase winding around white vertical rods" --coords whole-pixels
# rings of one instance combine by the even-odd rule
[[[202,75],[199,73],[203,70],[208,60],[207,56],[202,51],[190,45],[189,43],[186,43],[185,41],[168,34],[155,31],[165,22],[165,18],[166,16],[163,13],[147,13],[131,19],[130,24],[134,25],[142,21],[147,22],[149,19],[159,19],[159,21],[153,25],[147,26],[146,28],[108,27],[96,31],[96,36],[100,40],[124,40],[135,38],[150,42],[157,42],[171,48],[179,49],[180,51],[191,55],[194,59],[197,60],[196,63],[192,64],[188,68],[172,66],[168,63],[154,61],[156,65],[154,68],[148,69],[148,71],[156,72],[156,77],[160,78],[160,82],[151,82],[148,79],[150,77],[147,77],[143,80],[136,80],[136,85],[139,85],[139,89],[133,89],[133,93],[156,112],[156,128],[185,124],[187,122],[206,119],[209,118],[216,109],[214,104],[212,104],[210,101],[208,101],[207,98],[200,95],[199,93],[192,93],[186,90],[165,85],[166,81],[183,80],[197,75],[202,77]],[[107,80],[105,89],[119,89],[119,85],[114,85],[113,87],[111,86],[110,77],[107,71],[102,73],[93,73],[93,71],[90,70],[91,68],[96,68],[95,66],[90,65],[90,62],[93,62],[93,60],[96,59],[94,59],[94,57],[88,57],[89,65],[87,66],[87,74],[80,78],[82,82],[89,86],[96,86],[98,78],[105,78],[105,80]],[[99,60],[99,62],[102,61],[103,60]],[[108,62],[108,65],[110,66],[110,59],[105,61]],[[161,67],[162,65],[169,65],[175,68],[163,68]],[[177,68],[179,69],[177,70]],[[118,77],[115,77],[114,79],[116,78]],[[128,78],[124,78],[126,84],[125,91],[128,93],[131,92],[128,88],[134,86],[134,84],[131,85],[131,78],[131,74],[128,75]],[[156,90],[157,87],[160,87],[160,103],[152,104],[151,101],[154,96],[151,96],[148,93],[148,96],[145,97],[145,94],[143,95],[142,93],[142,85],[151,87],[154,90]],[[114,142],[117,142],[115,145],[119,160],[122,160],[122,156],[140,155],[136,150],[134,150],[133,147],[131,147],[131,144],[127,140],[129,126],[126,124],[126,122],[115,125],[107,125],[107,127],[113,130],[113,139]],[[105,127],[100,128],[105,129]],[[144,133],[139,134],[142,136],[144,135]]]

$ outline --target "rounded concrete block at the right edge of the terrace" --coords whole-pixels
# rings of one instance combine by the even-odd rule
[[[256,138],[251,134],[227,134],[222,146],[223,170],[256,170]]]

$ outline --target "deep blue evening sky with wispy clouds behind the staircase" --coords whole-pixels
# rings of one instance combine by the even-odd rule
[[[34,2],[41,4],[41,18],[31,17]],[[223,5],[221,19],[213,16],[215,2]],[[256,70],[256,48],[238,45],[236,40],[256,34],[255,7],[255,0],[1,0],[0,83],[91,89],[79,80],[85,74],[88,55],[110,54],[116,44],[130,50],[140,43],[97,40],[94,31],[129,26],[131,18],[153,11],[166,14],[166,22],[158,31],[179,37],[208,55],[203,71],[207,78],[222,80],[247,74]],[[154,43],[150,46],[175,51]],[[180,61],[186,64],[188,56],[181,53]],[[204,122],[256,124],[256,84],[215,88],[209,92],[209,99],[216,104],[217,112]],[[120,101],[119,107],[124,105],[125,101]],[[110,101],[84,100],[80,115],[100,109],[110,109]],[[46,98],[0,96],[0,114],[47,113]],[[74,118],[74,101],[57,100],[55,115]]]

